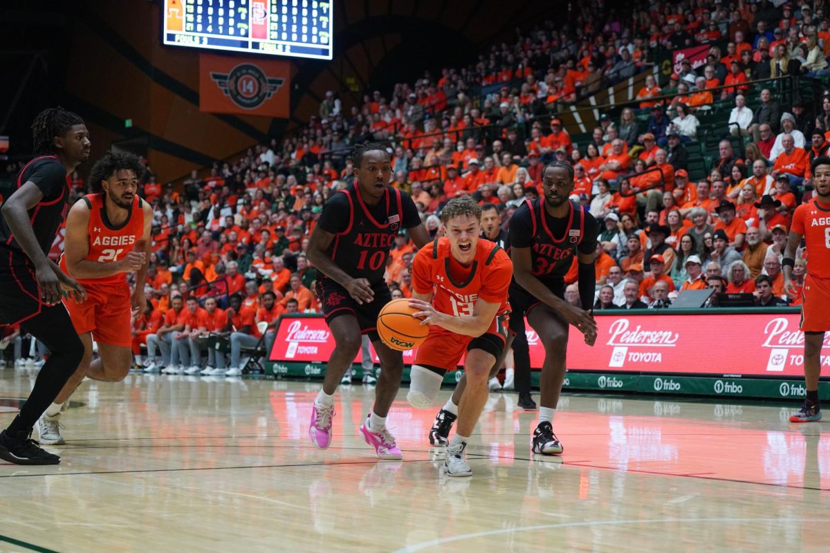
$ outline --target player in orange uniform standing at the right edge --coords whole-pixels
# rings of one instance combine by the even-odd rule
[[[802,288],[801,330],[804,332],[804,381],[807,397],[801,410],[789,418],[793,423],[822,419],[818,400],[818,376],[821,374],[821,353],[824,332],[830,330],[830,158],[821,156],[810,163],[813,189],[818,196],[795,208],[789,227],[789,240],[784,250],[784,291],[795,298],[793,266],[801,239],[807,247],[809,260]]]

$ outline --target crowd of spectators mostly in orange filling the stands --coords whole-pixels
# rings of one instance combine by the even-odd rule
[[[572,197],[602,226],[596,308],[663,308],[681,290],[707,287],[754,293],[764,306],[789,303],[780,260],[793,209],[812,193],[809,160],[828,150],[830,95],[818,105],[782,105],[774,87],[758,92],[745,83],[823,75],[830,48],[823,6],[609,4],[572,7],[564,22],[517,33],[474,64],[426,72],[349,108],[330,91],[304,128],[193,171],[181,186],[162,185],[148,170],[141,192],[154,206],[144,283],[152,299],[136,323],[135,351],[147,342],[152,357],[161,350],[160,366],[182,371],[192,363],[195,374],[199,337],[221,327],[238,370],[241,349],[260,337],[257,323],[320,311],[308,237],[325,201],[353,182],[350,148],[369,139],[388,142],[391,184],[413,196],[432,235],[444,203],[464,194],[496,206],[506,228],[522,201],[539,196],[545,163],[572,163]],[[714,46],[723,41],[725,54]],[[651,73],[658,48],[706,42],[713,46],[705,65],[682,65],[662,87],[649,75],[637,101],[603,113],[590,138],[574,142],[556,115],[602,86]],[[662,98],[673,93],[681,95]],[[691,182],[686,146],[696,144],[699,117],[717,101],[735,103],[722,122],[729,130],[709,174]],[[72,182],[83,190],[80,177]],[[408,236],[398,236],[387,267],[393,297],[410,295],[412,257]],[[799,255],[798,283],[805,260]],[[572,273],[566,298],[576,302]],[[191,297],[197,302],[188,305]],[[223,322],[205,323],[209,297]],[[224,371],[224,359],[208,361],[216,372],[207,374]]]

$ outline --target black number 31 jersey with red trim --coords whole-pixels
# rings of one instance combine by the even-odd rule
[[[579,204],[568,203],[569,215],[561,218],[548,214],[543,198],[525,201],[510,217],[510,246],[530,248],[533,275],[552,290],[562,285],[578,251],[597,250],[597,220]]]

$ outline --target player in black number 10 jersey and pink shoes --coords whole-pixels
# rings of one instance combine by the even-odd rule
[[[354,177],[354,185],[325,203],[308,245],[308,259],[322,273],[318,293],[336,342],[312,410],[309,436],[318,448],[329,447],[334,391],[360,351],[361,335],[369,334],[381,372],[374,408],[360,431],[378,457],[402,458],[386,429],[386,415],[401,385],[403,355],[380,341],[376,324],[381,308],[392,299],[383,274],[398,230],[408,229],[418,248],[430,239],[412,198],[389,186],[392,165],[383,145],[354,149]]]

